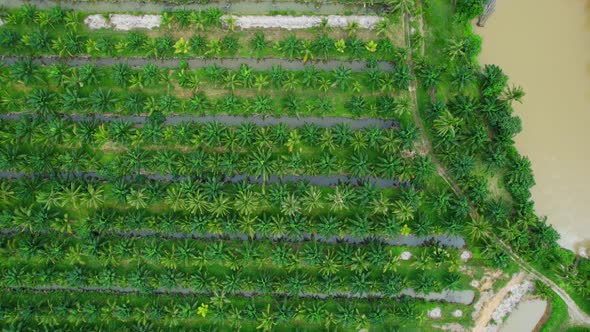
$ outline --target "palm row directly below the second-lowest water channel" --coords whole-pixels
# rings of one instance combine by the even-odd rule
[[[82,240],[82,241],[81,241]],[[165,265],[189,271],[198,267],[220,264],[232,271],[266,266],[292,269],[319,269],[328,277],[340,272],[398,272],[399,276],[418,270],[448,268],[453,272],[459,261],[456,249],[436,245],[423,248],[395,248],[378,241],[367,244],[347,244],[310,241],[294,246],[289,242],[265,240],[243,242],[240,240],[201,240],[126,237],[59,236],[55,233],[15,234],[12,245],[4,249],[6,262],[25,258],[34,262],[56,264],[59,261],[77,262],[83,265],[109,266],[125,261],[129,265]],[[412,261],[400,261],[402,251],[413,254]],[[330,266],[330,267],[328,267]],[[268,271],[270,272],[270,271]],[[385,278],[389,279],[390,276]],[[274,278],[275,280],[277,277]],[[410,278],[411,279],[411,278]],[[212,283],[216,284],[216,283]],[[445,285],[443,285],[445,286]],[[449,287],[448,285],[445,287]]]

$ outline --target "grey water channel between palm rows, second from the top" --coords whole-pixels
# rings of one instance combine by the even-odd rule
[[[2,56],[0,61],[5,64],[12,65],[18,61],[28,59],[23,56]],[[318,70],[334,70],[338,67],[350,68],[353,72],[362,72],[367,69],[367,62],[360,60],[339,61],[308,61],[304,63],[301,60],[287,60],[278,58],[224,58],[224,59],[202,59],[202,58],[187,58],[187,59],[148,59],[139,57],[125,57],[125,58],[94,58],[90,56],[77,56],[73,58],[60,58],[58,56],[40,56],[33,59],[39,65],[52,65],[54,63],[65,63],[69,66],[82,66],[86,63],[94,63],[97,66],[113,66],[117,63],[125,63],[130,67],[138,68],[149,63],[158,65],[160,68],[178,68],[181,61],[185,61],[191,68],[203,68],[213,64],[220,67],[237,70],[242,64],[250,66],[254,70],[270,70],[273,66],[282,66],[286,70],[303,70],[306,67],[314,66]],[[377,66],[381,70],[392,70],[393,64],[388,61],[379,61]]]

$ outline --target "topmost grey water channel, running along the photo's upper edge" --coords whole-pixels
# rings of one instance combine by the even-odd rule
[[[90,2],[90,1],[48,1],[48,0],[3,0],[2,6],[17,8],[24,4],[33,4],[39,9],[47,9],[60,6],[66,9],[74,9],[84,12],[110,13],[110,12],[134,12],[134,13],[159,13],[172,10],[205,10],[207,8],[219,8],[226,13],[261,15],[273,11],[313,13],[314,15],[330,14],[375,14],[376,9],[356,4],[344,5],[334,2],[322,4],[302,3],[291,1],[238,1],[238,2],[211,2],[208,4],[171,4],[171,3],[150,3],[144,1],[113,1],[113,2]]]

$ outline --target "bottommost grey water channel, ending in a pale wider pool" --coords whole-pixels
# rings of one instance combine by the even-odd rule
[[[37,292],[101,292],[101,293],[120,293],[120,294],[134,294],[141,293],[139,289],[122,288],[122,287],[66,287],[66,286],[37,286],[37,287],[8,287],[5,288],[10,291],[37,291]],[[153,294],[179,294],[179,295],[213,295],[211,291],[197,291],[194,289],[178,288],[157,288]],[[230,292],[228,295],[241,296],[252,298],[256,296],[269,295],[268,293],[256,291],[236,291]],[[329,298],[344,298],[344,299],[384,299],[392,298],[381,292],[369,292],[363,294],[353,294],[350,292],[324,294],[324,293],[299,293],[297,295],[289,293],[271,293],[274,297],[294,297],[311,298],[311,299],[329,299]],[[428,294],[416,293],[412,288],[402,290],[397,297],[408,296],[426,301],[444,301],[449,303],[469,305],[475,298],[473,290],[445,290],[440,293],[431,292]]]

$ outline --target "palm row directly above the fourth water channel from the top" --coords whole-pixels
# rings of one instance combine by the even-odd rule
[[[111,177],[142,173],[227,177],[247,174],[266,182],[271,175],[295,174],[343,175],[361,180],[372,176],[418,183],[430,180],[434,170],[427,157],[417,157],[412,162],[392,155],[375,157],[368,152],[336,155],[321,151],[309,156],[303,151],[277,153],[262,148],[242,153],[200,149],[183,153],[147,147],[103,154],[99,149],[56,149],[49,145],[26,150],[14,145],[5,146],[0,149],[0,168],[41,176],[60,172],[98,172]]]

